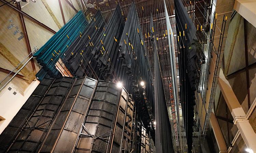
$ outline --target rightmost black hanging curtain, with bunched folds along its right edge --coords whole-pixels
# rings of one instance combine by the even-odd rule
[[[178,55],[179,60],[179,72],[180,72],[180,97],[182,104],[182,113],[185,123],[184,129],[186,129],[186,138],[188,145],[188,152],[192,152],[192,135],[193,135],[193,124],[194,124],[194,105],[195,103],[195,90],[196,90],[196,80],[197,68],[196,62],[199,61],[197,56],[198,39],[196,37],[196,27],[194,23],[189,18],[189,15],[180,0],[174,1],[175,5],[175,20],[176,20],[176,30],[177,33],[180,31],[185,31],[186,40],[180,38],[180,46],[185,46],[185,48],[180,48]],[[186,25],[187,24],[187,29]]]

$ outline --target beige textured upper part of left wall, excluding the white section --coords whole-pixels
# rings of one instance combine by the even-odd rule
[[[37,0],[35,3],[30,2],[29,4],[20,2],[21,6],[24,6],[22,8],[22,11],[27,13],[28,15],[32,16],[39,22],[45,24],[49,28],[53,29],[54,31],[58,31],[59,28],[54,21],[53,18],[55,18],[60,26],[62,27],[64,25],[59,1],[58,0],[44,0],[48,4],[48,10],[50,9],[52,11],[52,17],[49,14],[49,11],[47,10],[46,6],[43,4],[42,0]],[[70,2],[70,0],[69,0]],[[77,3],[77,0],[71,0],[72,4],[76,8],[76,10],[80,10],[79,4]],[[80,2],[80,1],[79,1]],[[0,2],[0,5],[3,4]],[[63,14],[65,16],[66,23],[75,15],[75,11],[73,8],[66,2],[66,0],[61,0]],[[13,4],[14,6],[17,6],[16,4]],[[50,11],[50,12],[51,12]],[[22,61],[27,55],[28,55],[28,49],[26,46],[26,40],[25,37],[18,40],[22,34],[20,32],[24,33],[22,28],[22,23],[19,17],[19,13],[14,11],[12,8],[10,8],[7,5],[4,5],[0,7],[0,42],[12,53],[12,55],[18,60]],[[9,19],[11,19],[9,21]],[[27,29],[27,34],[30,42],[31,50],[34,49],[35,46],[38,46],[38,49],[42,47],[49,38],[53,36],[53,33],[48,31],[47,29],[43,28],[39,24],[31,21],[27,17],[24,16],[24,21]],[[8,27],[14,24],[14,26],[10,29]],[[18,29],[17,29],[17,28]],[[13,33],[17,31],[17,34],[14,35]],[[38,64],[35,61],[35,67],[36,72],[39,71]],[[13,70],[16,65],[12,64],[12,62],[6,60],[6,58],[0,54],[0,67],[8,70]],[[32,72],[32,66],[31,63],[28,63],[26,66],[26,69],[29,70],[29,72]],[[22,73],[20,73],[22,74]],[[0,80],[6,76],[6,73],[0,72]],[[22,74],[24,75],[24,74]],[[27,77],[27,76],[25,76]],[[19,88],[19,91],[25,91],[29,84],[25,82],[23,79],[15,78],[12,83]],[[1,84],[2,85],[2,84]],[[1,87],[0,85],[0,87]],[[23,93],[21,93],[23,94]]]

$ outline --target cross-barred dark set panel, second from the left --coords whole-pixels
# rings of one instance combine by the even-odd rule
[[[38,150],[72,84],[73,78],[58,78],[54,81],[7,151]]]

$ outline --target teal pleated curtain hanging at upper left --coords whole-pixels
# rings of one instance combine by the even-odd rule
[[[36,57],[37,62],[49,75],[55,76],[59,74],[58,70],[55,68],[55,63],[57,63],[59,56],[64,58],[67,46],[71,44],[71,41],[73,42],[75,38],[80,36],[80,32],[82,33],[87,26],[88,22],[83,12],[79,11],[55,35],[53,35],[44,44],[44,46],[42,46],[36,53],[34,53],[33,56]],[[56,50],[58,53],[60,51],[59,56],[56,55],[54,50]]]

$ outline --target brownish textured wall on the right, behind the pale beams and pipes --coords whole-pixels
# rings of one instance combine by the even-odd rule
[[[248,64],[254,64],[256,62],[256,28],[252,26],[252,24],[246,22],[247,24],[247,47],[248,47]],[[230,21],[229,29],[228,29],[228,37],[224,50],[224,74],[227,76],[227,80],[231,85],[234,94],[236,95],[239,103],[241,104],[245,113],[248,112],[248,93],[247,93],[247,84],[246,84],[246,71],[245,69],[245,44],[244,44],[244,19],[243,17],[236,13]],[[238,70],[240,72],[232,74]],[[256,90],[256,66],[251,66],[249,68],[249,86],[250,86],[250,99],[251,104],[254,102],[256,98],[255,90]],[[221,96],[221,94],[220,94]],[[219,94],[215,97],[217,100]],[[225,111],[223,111],[223,107],[225,104],[225,100],[220,97],[217,103],[217,111],[216,114],[218,116],[225,117]],[[232,118],[230,118],[232,121]],[[221,126],[222,133],[227,140],[227,123],[226,121],[221,121],[218,119],[219,125]],[[256,132],[256,112],[252,113],[249,118],[249,122]],[[229,128],[231,126],[230,138],[234,137],[236,134],[237,127],[236,125],[229,124]],[[236,141],[234,147],[231,149],[231,152],[244,152],[246,145],[241,136],[239,136]]]

